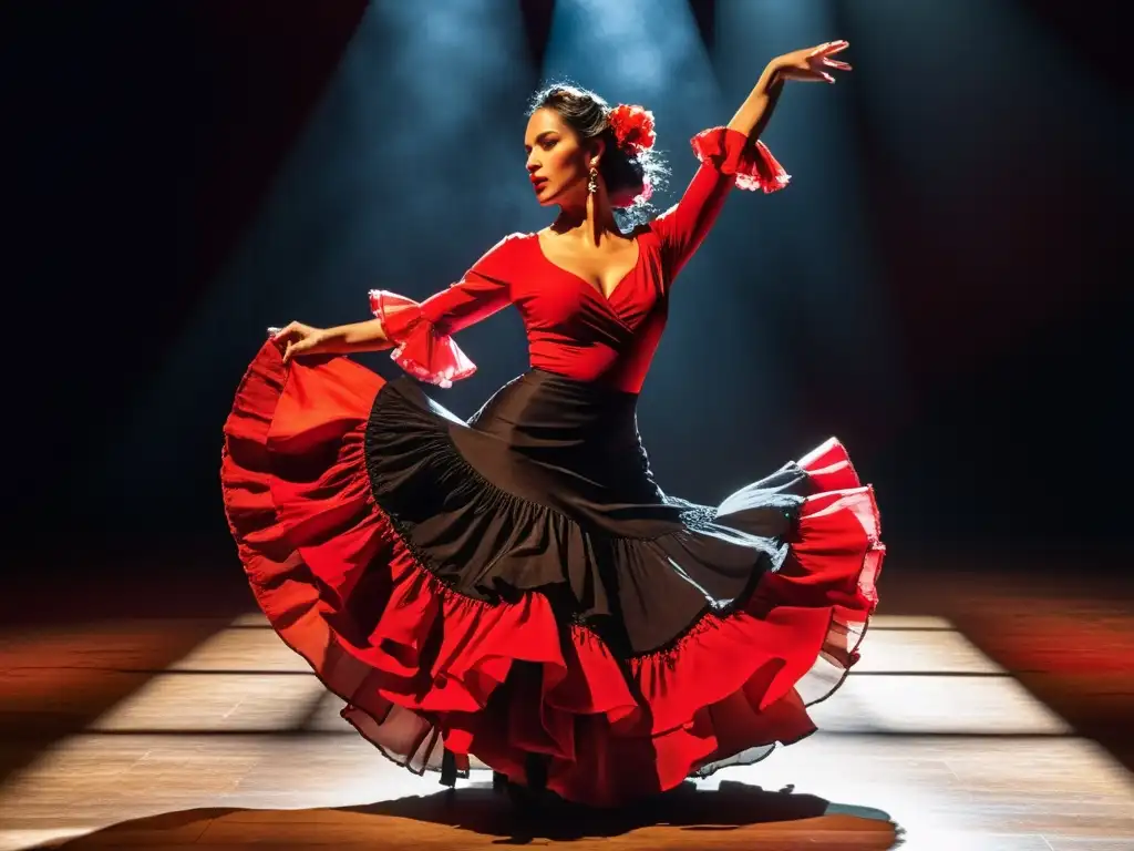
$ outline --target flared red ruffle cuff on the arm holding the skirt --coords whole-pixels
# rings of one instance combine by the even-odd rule
[[[370,310],[382,323],[386,338],[395,344],[390,360],[407,373],[438,387],[452,387],[454,381],[476,371],[451,337],[439,334],[412,298],[384,289],[370,290]]]

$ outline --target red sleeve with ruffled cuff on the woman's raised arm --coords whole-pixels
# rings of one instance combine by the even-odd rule
[[[661,243],[667,288],[701,246],[733,186],[776,192],[790,180],[767,145],[750,144],[738,130],[712,127],[694,136],[691,145],[701,167],[682,200],[651,224]]]

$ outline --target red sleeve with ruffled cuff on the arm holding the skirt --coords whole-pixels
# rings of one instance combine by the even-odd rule
[[[370,310],[393,344],[390,357],[414,378],[451,387],[468,378],[474,364],[451,335],[486,319],[511,303],[509,280],[516,275],[510,246],[521,234],[506,236],[456,284],[418,304],[397,293],[372,289]]]

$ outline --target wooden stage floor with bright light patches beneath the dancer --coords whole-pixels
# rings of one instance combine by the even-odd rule
[[[162,599],[201,605],[92,585],[85,616],[2,627],[0,851],[1134,849],[1126,585],[892,559],[819,734],[631,811],[531,819],[486,776],[449,792],[384,760],[243,589],[181,583]]]

